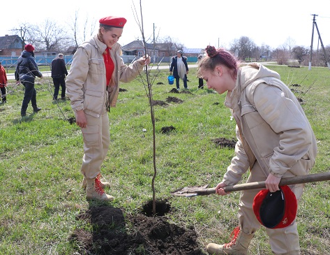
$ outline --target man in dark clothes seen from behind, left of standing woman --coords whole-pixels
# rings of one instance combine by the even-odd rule
[[[59,53],[57,58],[52,60],[52,78],[54,82],[54,100],[57,100],[59,95],[59,86],[61,85],[61,99],[66,99],[66,75],[68,71],[66,70],[66,62],[63,59],[63,54]]]

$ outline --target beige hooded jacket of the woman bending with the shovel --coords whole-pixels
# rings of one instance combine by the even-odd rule
[[[237,122],[234,158],[223,182],[237,184],[255,161],[265,174],[306,175],[315,163],[316,139],[299,101],[280,75],[260,64],[239,69],[225,105]]]

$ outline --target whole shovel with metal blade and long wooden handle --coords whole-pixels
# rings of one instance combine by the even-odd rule
[[[313,175],[300,175],[295,177],[284,178],[280,180],[280,184],[278,186],[291,185],[291,184],[300,184],[307,182],[320,182],[320,181],[328,181],[330,180],[330,172],[327,173],[315,173]],[[173,191],[172,196],[186,196],[186,198],[190,198],[192,196],[205,196],[210,194],[216,194],[216,188],[209,188],[209,185],[204,185],[202,187],[184,187],[182,189],[177,189]],[[225,192],[232,191],[242,191],[247,189],[262,189],[266,188],[266,184],[264,182],[249,182],[244,184],[236,184],[236,185],[228,185],[223,187]]]

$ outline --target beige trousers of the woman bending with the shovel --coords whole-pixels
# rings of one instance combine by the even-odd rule
[[[262,172],[259,163],[255,163],[253,169],[250,171],[248,182],[265,181],[266,175]],[[303,193],[304,184],[290,185],[290,189],[294,192],[299,202]],[[255,233],[260,226],[260,222],[255,217],[253,212],[253,198],[261,189],[251,189],[242,191],[239,203],[239,226],[246,234]],[[298,255],[300,252],[299,235],[297,231],[297,224],[294,220],[290,226],[286,228],[266,228],[267,235],[269,235],[269,242],[271,251],[274,254],[281,255]]]

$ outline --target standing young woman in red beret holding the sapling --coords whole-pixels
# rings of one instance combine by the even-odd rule
[[[66,78],[66,94],[75,111],[77,126],[84,138],[84,156],[81,172],[87,199],[112,201],[105,194],[108,182],[100,180],[100,167],[110,145],[110,107],[116,105],[119,82],[130,82],[142,73],[150,57],[141,57],[129,66],[121,59],[118,40],[126,19],[103,17],[99,20],[98,34],[82,43],[73,56]]]

